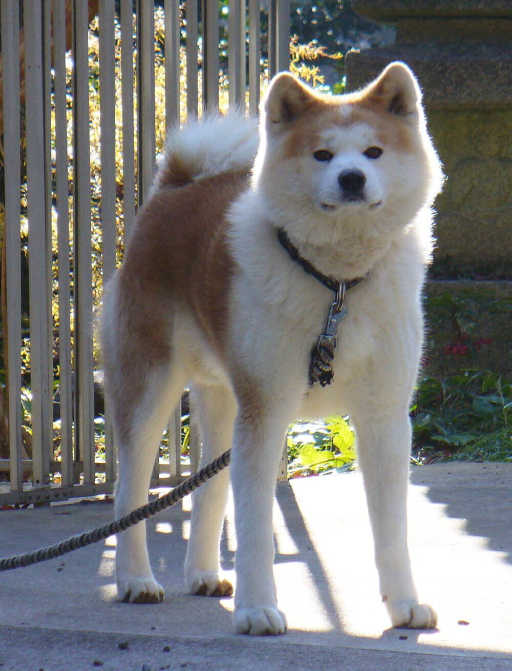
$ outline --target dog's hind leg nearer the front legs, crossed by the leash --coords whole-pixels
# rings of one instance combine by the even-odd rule
[[[198,417],[202,453],[200,468],[231,448],[237,402],[231,390],[200,386],[191,390]],[[212,597],[229,597],[233,586],[220,578],[220,533],[229,489],[229,468],[200,486],[192,495],[192,523],[185,561],[189,592]]]

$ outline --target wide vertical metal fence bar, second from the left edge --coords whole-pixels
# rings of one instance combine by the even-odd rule
[[[32,446],[34,484],[50,482],[50,324],[48,320],[48,216],[44,106],[44,52],[42,3],[24,4],[25,110],[27,139],[27,202],[29,219],[30,379],[32,392]]]

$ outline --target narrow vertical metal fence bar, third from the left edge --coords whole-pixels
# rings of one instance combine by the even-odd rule
[[[65,0],[54,0],[55,170],[59,286],[59,395],[62,485],[73,482],[68,137]]]

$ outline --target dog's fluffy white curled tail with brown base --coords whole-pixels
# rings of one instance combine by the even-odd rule
[[[257,145],[257,120],[240,112],[188,121],[168,134],[153,188],[181,187],[227,170],[249,172]]]

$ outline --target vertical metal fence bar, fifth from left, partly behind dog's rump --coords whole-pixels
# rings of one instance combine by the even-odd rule
[[[99,3],[99,64],[101,124],[101,225],[103,287],[115,270],[115,53],[114,0]],[[105,400],[105,478],[115,478],[111,413]]]

